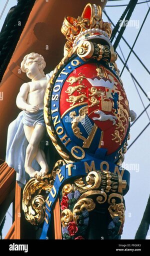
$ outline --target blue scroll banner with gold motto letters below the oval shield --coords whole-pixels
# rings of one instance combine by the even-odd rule
[[[77,178],[79,176],[85,176],[88,174],[89,170],[87,166],[91,167],[94,166],[95,170],[109,170],[110,172],[117,173],[119,175],[122,175],[122,179],[126,180],[126,188],[123,190],[123,194],[125,194],[129,189],[129,179],[130,179],[130,173],[122,169],[121,173],[119,172],[119,168],[116,164],[104,160],[87,160],[87,161],[79,161],[79,162],[73,162],[66,165],[63,165],[56,177],[53,184],[53,187],[48,194],[45,202],[45,221],[43,223],[42,232],[39,239],[47,239],[47,231],[50,224],[50,218],[51,218],[51,212],[52,208],[54,206],[54,203],[57,199],[57,196],[60,192],[60,189],[66,182],[71,182],[71,178]],[[92,170],[94,170],[92,168]]]

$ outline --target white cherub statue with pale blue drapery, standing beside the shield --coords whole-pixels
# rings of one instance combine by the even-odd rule
[[[45,134],[43,98],[52,71],[45,75],[44,67],[44,58],[38,53],[31,52],[23,58],[21,70],[31,81],[21,85],[16,105],[22,111],[8,127],[6,162],[16,170],[16,179],[23,184],[27,181],[25,171],[30,177],[48,172],[40,141]]]

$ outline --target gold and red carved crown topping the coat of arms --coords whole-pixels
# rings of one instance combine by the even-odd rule
[[[61,32],[65,35],[66,47],[74,47],[81,38],[98,34],[109,38],[112,32],[111,23],[102,21],[102,10],[99,5],[86,4],[82,15],[77,19],[65,16]]]

